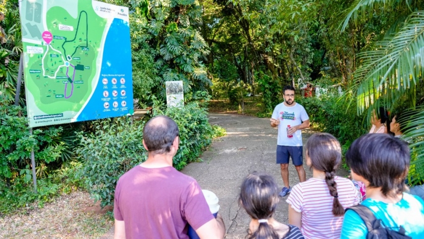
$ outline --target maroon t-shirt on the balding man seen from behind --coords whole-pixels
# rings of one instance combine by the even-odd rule
[[[115,219],[131,238],[188,238],[214,219],[199,184],[173,167],[136,166],[122,175],[115,190]]]

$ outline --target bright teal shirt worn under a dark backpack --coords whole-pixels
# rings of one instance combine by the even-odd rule
[[[373,199],[366,199],[361,203],[374,212],[377,219],[381,219],[386,227],[396,230],[401,225],[406,235],[413,239],[424,238],[424,201],[403,193],[403,198],[396,204],[383,203]],[[365,239],[368,230],[357,213],[348,210],[343,219],[341,239]]]

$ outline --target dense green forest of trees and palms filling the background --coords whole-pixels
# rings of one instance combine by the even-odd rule
[[[25,107],[24,90],[18,97],[15,95],[23,51],[18,0],[3,2],[0,108],[3,116],[18,117],[11,120],[14,127],[25,129],[25,120],[16,120],[22,118],[23,111],[12,107],[15,98],[19,99],[18,105]],[[424,178],[423,1],[102,2],[130,9],[134,98],[139,99],[139,107],[155,109],[164,104],[165,82],[182,80],[187,105],[203,107],[204,101],[211,98],[243,104],[247,95],[256,95],[261,106],[258,113],[267,116],[281,102],[284,85],[300,89],[310,82],[327,93],[320,99],[302,99],[302,104],[310,109],[312,122],[315,120],[321,130],[335,134],[344,150],[369,125],[373,109],[383,106],[391,112],[408,111],[410,127],[404,137],[411,142],[410,179],[417,184]],[[206,116],[201,120],[207,124]],[[9,159],[0,160],[0,176],[6,178],[5,185],[9,187],[13,178],[28,175],[28,155],[22,152],[33,147],[28,141],[28,145],[15,145],[16,140],[28,135],[10,137],[13,127],[5,125],[11,121],[2,120],[0,132],[3,141],[9,142],[0,147],[1,157]],[[38,129],[38,141],[33,145],[44,150],[39,162],[45,165],[45,170],[39,168],[38,176],[46,177],[42,172],[56,170],[63,162],[84,155],[84,149],[74,152],[67,147],[79,144],[80,141],[72,141],[77,138],[75,132],[84,132],[80,140],[93,146],[91,141],[84,141],[86,133],[98,135],[96,129],[101,129],[103,123]],[[55,135],[54,140],[49,138]],[[56,148],[49,148],[52,141]],[[13,153],[13,149],[22,152]],[[184,165],[185,162],[181,167]]]

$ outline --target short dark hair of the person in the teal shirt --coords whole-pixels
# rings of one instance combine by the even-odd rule
[[[356,139],[346,152],[352,171],[369,181],[369,187],[381,187],[384,196],[395,196],[405,189],[410,162],[408,145],[384,133],[369,133]]]

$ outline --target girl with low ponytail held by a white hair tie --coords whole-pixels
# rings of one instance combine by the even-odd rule
[[[303,239],[299,228],[273,218],[277,207],[278,186],[266,173],[253,172],[241,184],[239,203],[249,214],[249,239]]]

